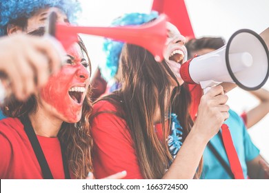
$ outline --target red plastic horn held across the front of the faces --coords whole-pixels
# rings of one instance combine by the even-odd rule
[[[86,27],[71,26],[56,21],[57,15],[52,12],[49,17],[48,31],[66,50],[77,41],[77,34],[91,34],[139,45],[150,51],[156,61],[163,60],[163,49],[167,38],[165,14],[141,26]]]

